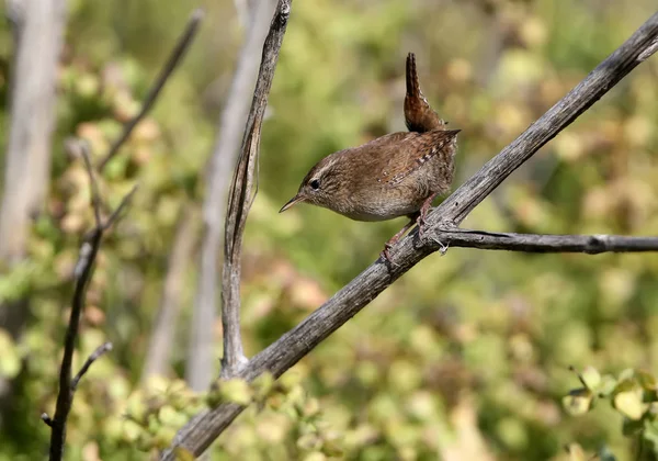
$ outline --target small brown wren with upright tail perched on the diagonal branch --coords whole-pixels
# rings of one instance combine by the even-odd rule
[[[388,134],[322,158],[280,211],[306,202],[356,221],[408,216],[409,223],[384,246],[382,256],[388,262],[393,245],[413,224],[421,235],[432,201],[450,191],[460,133],[445,130],[445,122],[420,91],[413,53],[407,56],[406,70],[409,132]]]

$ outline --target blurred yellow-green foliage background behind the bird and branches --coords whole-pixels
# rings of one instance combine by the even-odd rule
[[[203,406],[177,398],[194,398],[182,380],[195,335],[190,319],[204,177],[256,4],[201,2],[206,19],[197,41],[103,171],[111,205],[134,183],[140,189],[105,239],[89,288],[75,369],[103,341],[114,350],[93,364],[76,394],[67,459],[146,459],[139,449],[167,446]],[[93,224],[83,165],[65,153],[64,139],[83,137],[94,159],[104,155],[139,109],[192,8],[184,0],[68,2],[49,187],[20,257],[2,261],[0,460],[45,453],[49,428],[39,414],[55,407],[72,268]],[[417,54],[430,103],[462,130],[456,187],[655,10],[654,0],[295,1],[246,231],[246,353],[318,307],[405,224],[358,223],[305,205],[277,211],[321,157],[405,131],[408,52]],[[3,146],[13,50],[4,22]],[[654,57],[512,175],[464,226],[657,235],[656,101]],[[620,413],[603,402],[574,417],[561,398],[579,385],[570,366],[615,375],[656,369],[657,274],[651,254],[433,255],[286,373],[279,398],[246,411],[213,446],[212,459],[591,459],[570,458],[581,449],[587,457],[634,459]],[[172,314],[162,327],[157,319],[166,304]],[[168,345],[158,359],[148,352],[156,325]],[[218,319],[213,328],[218,369]]]

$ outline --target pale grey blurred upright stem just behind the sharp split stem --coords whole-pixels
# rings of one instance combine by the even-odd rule
[[[260,50],[273,11],[272,0],[253,5],[246,24],[247,37],[238,57],[228,100],[222,112],[217,140],[209,165],[203,207],[204,231],[201,247],[201,268],[188,359],[188,382],[196,391],[204,391],[213,380],[213,328],[218,282],[217,258],[223,236],[226,194],[245,133],[245,122],[257,76]],[[240,356],[242,352],[240,351]]]

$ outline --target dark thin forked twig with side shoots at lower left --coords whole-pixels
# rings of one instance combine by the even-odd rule
[[[64,340],[64,357],[61,358],[61,367],[59,369],[59,393],[57,394],[55,416],[50,419],[47,414],[42,415],[44,423],[52,428],[50,461],[61,460],[64,457],[66,423],[73,403],[73,394],[78,386],[78,382],[87,372],[89,367],[91,367],[91,363],[93,363],[94,360],[97,360],[102,353],[110,350],[112,347],[112,345],[107,342],[97,349],[95,352],[93,352],[87,359],[78,374],[71,379],[71,366],[73,361],[73,351],[76,349],[76,339],[78,337],[78,327],[80,325],[80,316],[82,315],[82,311],[84,310],[84,304],[87,302],[87,286],[91,280],[93,263],[101,247],[103,233],[117,218],[121,211],[127,206],[135,192],[135,188],[133,188],[133,190],[126,196],[124,196],[116,211],[112,213],[105,223],[103,223],[101,221],[100,213],[99,189],[95,182],[95,177],[91,169],[91,162],[89,160],[89,153],[87,151],[86,143],[68,142],[67,147],[71,149],[71,154],[82,157],[84,165],[87,166],[87,173],[89,175],[89,182],[92,191],[91,204],[94,210],[95,225],[80,248],[80,256],[78,257],[78,262],[76,263],[76,268],[73,270],[76,284],[73,290],[73,299],[71,302],[71,314]]]

